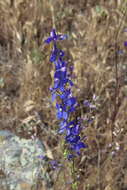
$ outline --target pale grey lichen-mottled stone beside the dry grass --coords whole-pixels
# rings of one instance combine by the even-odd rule
[[[24,139],[8,130],[1,130],[0,155],[0,171],[3,172],[0,189],[29,190],[40,177],[50,187],[45,160],[39,158],[40,155],[46,156],[46,149],[38,138]]]

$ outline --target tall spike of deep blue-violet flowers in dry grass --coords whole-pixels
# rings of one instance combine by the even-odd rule
[[[53,49],[50,55],[50,62],[53,62],[55,65],[54,73],[54,86],[50,88],[52,94],[52,101],[56,100],[56,110],[57,110],[57,119],[60,120],[60,128],[58,132],[60,134],[65,134],[65,142],[71,150],[72,153],[80,154],[80,149],[85,148],[86,145],[82,142],[80,137],[81,126],[80,122],[71,120],[70,116],[72,112],[75,111],[77,106],[76,98],[72,96],[71,88],[73,82],[70,77],[71,74],[69,69],[72,70],[72,67],[68,67],[67,62],[64,61],[64,52],[58,48],[57,42],[59,40],[67,39],[67,35],[58,35],[56,34],[55,29],[50,33],[50,37],[45,40],[45,43],[53,43]],[[57,98],[60,98],[60,103],[58,103]],[[74,154],[68,155],[71,157]]]

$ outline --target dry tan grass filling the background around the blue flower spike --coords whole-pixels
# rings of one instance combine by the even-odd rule
[[[127,190],[126,4],[125,0],[0,1],[0,128],[25,138],[35,133],[45,141],[50,157],[61,162],[61,137],[56,134],[58,122],[49,92],[53,67],[50,47],[43,41],[53,26],[69,34],[61,45],[75,68],[77,114],[94,116],[83,131],[89,147],[76,160],[78,190]],[[94,94],[97,109],[89,112],[83,101],[92,102]],[[54,178],[54,190],[71,189],[68,162],[54,172]]]

